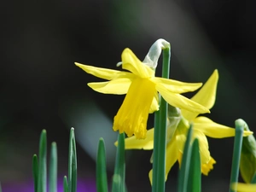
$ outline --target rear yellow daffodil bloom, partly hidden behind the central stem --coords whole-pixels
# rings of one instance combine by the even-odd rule
[[[211,109],[215,102],[216,89],[218,84],[218,71],[215,70],[212,76],[207,80],[207,83],[199,90],[195,96],[191,98],[192,101],[198,102],[208,109]],[[183,145],[186,141],[189,124],[193,123],[192,140],[198,138],[201,154],[201,172],[207,175],[213,168],[216,161],[210,155],[208,150],[207,137],[224,138],[234,137],[235,129],[225,125],[220,125],[213,122],[207,117],[198,116],[199,113],[189,112],[188,110],[177,108],[177,116],[180,117],[177,122],[177,128],[173,131],[173,125],[167,119],[167,138],[166,138],[166,179],[172,166],[176,161],[181,163],[183,154]],[[176,120],[177,121],[177,120]],[[175,121],[175,122],[176,122]],[[171,134],[170,134],[171,132]],[[244,131],[244,136],[252,134],[251,131]],[[116,144],[116,143],[115,143]],[[150,150],[154,147],[154,128],[148,130],[145,140],[137,140],[135,137],[125,139],[125,149],[146,149]],[[180,164],[181,165],[181,164]],[[152,181],[152,170],[149,172],[150,181]]]

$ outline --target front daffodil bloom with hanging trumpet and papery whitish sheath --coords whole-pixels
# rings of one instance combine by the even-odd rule
[[[193,113],[209,113],[207,108],[180,95],[197,90],[201,84],[183,83],[154,76],[160,50],[166,47],[170,47],[168,42],[163,39],[158,40],[149,49],[144,62],[140,61],[131,49],[125,49],[121,55],[120,64],[129,72],[75,63],[86,73],[108,80],[89,83],[93,90],[104,94],[126,94],[123,104],[113,119],[113,131],[120,133],[125,131],[128,137],[135,135],[137,138],[145,138],[148,113],[159,109],[158,92],[172,106],[184,108]]]

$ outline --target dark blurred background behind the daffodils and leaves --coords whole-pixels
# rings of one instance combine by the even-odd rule
[[[9,185],[25,191],[20,186],[32,182],[32,154],[38,153],[42,129],[49,144],[58,144],[61,179],[67,175],[69,129],[75,128],[79,183],[94,180],[97,142],[104,137],[111,181],[117,138],[112,120],[124,96],[90,90],[86,84],[99,79],[73,62],[115,69],[123,49],[143,60],[158,38],[172,44],[172,79],[204,83],[218,68],[217,102],[208,117],[229,126],[242,118],[256,131],[253,1],[4,1],[0,13],[3,192]],[[202,176],[202,189],[227,191],[233,138],[208,141],[217,164],[208,177]],[[129,191],[150,190],[150,156],[151,151],[128,151]],[[177,165],[166,183],[169,191],[176,177]]]

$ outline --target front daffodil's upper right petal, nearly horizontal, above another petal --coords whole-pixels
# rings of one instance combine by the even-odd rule
[[[177,80],[172,79],[163,79],[163,78],[157,78],[155,77],[152,79],[155,84],[162,84],[166,87],[166,90],[171,91],[172,93],[185,93],[189,91],[197,90],[201,87],[201,83],[197,84],[190,84],[190,83],[184,83]]]

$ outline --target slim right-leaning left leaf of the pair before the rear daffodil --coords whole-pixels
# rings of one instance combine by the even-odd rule
[[[184,144],[183,149],[183,158],[181,162],[181,168],[178,172],[178,181],[177,181],[177,191],[178,192],[186,192],[188,188],[188,180],[189,180],[189,165],[190,165],[190,158],[191,158],[191,136],[192,136],[192,129],[193,125],[190,125],[189,131],[187,134],[187,140]]]

